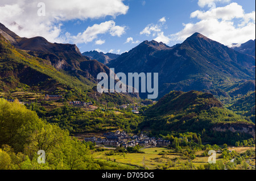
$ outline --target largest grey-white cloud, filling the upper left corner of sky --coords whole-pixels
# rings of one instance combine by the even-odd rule
[[[44,0],[46,16],[38,16],[38,2],[1,0],[0,22],[22,37],[43,36],[48,41],[63,42],[62,23],[68,20],[98,19],[126,14],[123,0]],[[113,26],[112,36],[121,36],[124,28]]]

